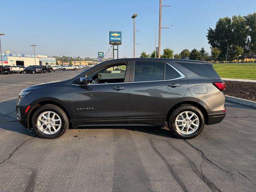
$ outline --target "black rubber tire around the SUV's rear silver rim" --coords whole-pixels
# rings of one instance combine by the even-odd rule
[[[178,117],[178,115],[181,114],[182,112],[186,112],[186,111],[195,113],[199,119],[198,128],[196,129],[196,131],[192,132],[191,134],[182,134],[181,132],[179,132],[176,129],[176,125],[175,125],[175,121],[176,121],[176,118]],[[169,127],[170,131],[172,131],[174,133],[174,135],[177,136],[178,138],[192,139],[192,138],[195,138],[196,136],[198,136],[204,129],[204,115],[195,106],[183,105],[183,106],[180,106],[179,108],[177,108],[176,110],[174,110],[174,112],[172,112],[172,115],[171,115],[169,123],[168,123],[168,127]]]

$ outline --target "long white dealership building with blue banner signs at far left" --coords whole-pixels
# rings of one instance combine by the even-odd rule
[[[47,55],[35,55],[34,58],[34,55],[31,54],[18,54],[6,51],[2,53],[2,65],[22,65],[25,67],[30,65],[56,65],[56,58],[48,57]]]

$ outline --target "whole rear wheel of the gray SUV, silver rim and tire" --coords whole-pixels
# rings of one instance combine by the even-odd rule
[[[195,106],[180,106],[172,113],[168,125],[178,138],[192,139],[204,129],[204,115]]]

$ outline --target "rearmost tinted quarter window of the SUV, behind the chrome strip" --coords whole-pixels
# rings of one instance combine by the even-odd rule
[[[209,78],[220,78],[218,73],[212,67],[212,64],[197,64],[197,63],[180,63],[182,66],[186,67],[188,70],[194,72],[203,77]]]

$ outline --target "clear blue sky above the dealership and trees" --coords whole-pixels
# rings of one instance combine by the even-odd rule
[[[207,29],[218,18],[256,11],[255,0],[162,0],[162,50],[184,48],[210,51]],[[136,18],[136,56],[154,50],[159,0],[1,0],[2,51],[49,56],[97,57],[109,48],[108,32],[122,31],[123,54],[132,57],[133,20]],[[124,52],[124,47],[125,52]]]

